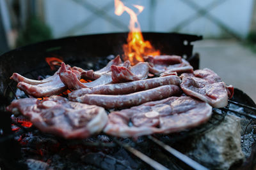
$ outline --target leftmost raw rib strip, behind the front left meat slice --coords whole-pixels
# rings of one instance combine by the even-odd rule
[[[70,66],[65,66],[65,69],[71,71]],[[80,74],[77,71],[72,71],[76,77],[79,77]],[[61,92],[65,92],[67,87],[64,83],[60,80],[60,69],[56,71],[52,76],[49,78],[45,78],[44,80],[31,80],[29,78],[25,78],[24,76],[20,76],[17,73],[13,73],[11,77],[15,81],[19,81],[17,87],[20,90],[26,92],[33,97],[46,97],[60,94]]]

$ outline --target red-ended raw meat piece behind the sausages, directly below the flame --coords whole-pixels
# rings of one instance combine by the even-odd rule
[[[143,80],[148,77],[148,63],[139,62],[135,66],[111,66],[113,83],[122,83],[127,81]]]

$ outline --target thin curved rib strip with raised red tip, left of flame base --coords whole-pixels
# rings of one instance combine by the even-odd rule
[[[111,66],[119,66],[120,64],[122,64],[122,60],[120,59],[120,56],[117,55],[115,57],[115,59],[108,62],[107,66],[103,67],[102,69],[99,69],[98,71],[93,71],[92,69],[85,71],[79,67],[73,67],[73,69],[80,71],[82,78],[88,78],[90,80],[97,80],[98,78],[100,78],[100,76],[102,76],[102,74],[105,74],[105,73],[108,73],[109,71],[111,71]],[[125,64],[128,64],[128,63],[125,62]]]

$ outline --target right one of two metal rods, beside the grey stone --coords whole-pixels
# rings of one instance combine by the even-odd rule
[[[148,136],[148,139],[150,139],[154,143],[157,143],[157,145],[161,146],[162,148],[164,148],[164,150],[171,153],[174,157],[181,160],[182,162],[184,162],[188,166],[192,167],[193,169],[202,169],[202,170],[207,169],[206,167],[204,167],[204,166],[198,164],[197,162],[195,162],[195,160],[193,160],[193,159],[187,157],[186,155],[180,153],[179,151],[175,150],[171,146],[164,144],[162,141],[159,141],[157,138],[154,138],[153,136]]]

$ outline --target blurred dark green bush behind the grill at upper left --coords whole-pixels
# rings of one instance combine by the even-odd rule
[[[31,17],[24,31],[19,33],[17,46],[24,46],[52,38],[51,29],[39,18]]]

